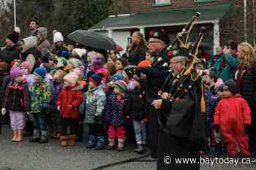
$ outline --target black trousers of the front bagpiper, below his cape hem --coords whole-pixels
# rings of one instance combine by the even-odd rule
[[[197,161],[200,161],[200,148],[197,145],[185,138],[170,136],[162,130],[159,130],[158,144],[157,170],[200,170],[199,163],[175,163],[175,158],[197,158]],[[164,162],[167,157],[171,158],[170,164]]]

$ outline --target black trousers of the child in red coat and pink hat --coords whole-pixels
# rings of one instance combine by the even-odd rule
[[[78,119],[73,117],[61,117],[61,136],[67,136],[67,128],[70,135],[77,133]]]

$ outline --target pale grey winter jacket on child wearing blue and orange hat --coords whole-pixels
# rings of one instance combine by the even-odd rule
[[[102,113],[106,103],[104,88],[103,85],[99,85],[86,93],[86,123],[95,123],[95,116],[100,116],[100,120],[97,123],[102,123]]]

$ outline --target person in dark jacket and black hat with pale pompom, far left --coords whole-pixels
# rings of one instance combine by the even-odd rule
[[[0,52],[0,61],[7,63],[9,69],[11,67],[12,61],[19,59],[20,49],[17,45],[19,33],[20,29],[16,27],[11,34],[7,35],[5,39],[6,47]]]

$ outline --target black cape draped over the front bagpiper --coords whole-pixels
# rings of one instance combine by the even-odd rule
[[[206,134],[208,128],[206,115],[201,112],[200,108],[202,91],[200,81],[195,82],[189,93],[177,101],[171,102],[168,99],[162,99],[159,122],[161,122],[160,129],[163,129],[170,136],[186,139],[203,150],[207,150]]]

